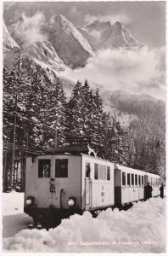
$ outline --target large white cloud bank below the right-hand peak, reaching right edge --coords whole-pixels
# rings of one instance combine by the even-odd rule
[[[165,95],[164,49],[104,49],[87,61],[86,67],[69,69],[66,77],[82,82],[87,79],[103,90]]]

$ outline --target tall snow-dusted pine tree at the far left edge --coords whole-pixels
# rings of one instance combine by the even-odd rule
[[[3,71],[3,143],[7,151],[6,156],[8,157],[10,155],[7,168],[10,170],[9,183],[11,183],[12,177],[14,182],[14,168],[12,166],[14,161],[20,158],[20,147],[24,142],[21,115],[24,112],[25,88],[27,83],[28,79],[22,68],[22,61],[19,54],[14,59],[12,69],[4,69]]]

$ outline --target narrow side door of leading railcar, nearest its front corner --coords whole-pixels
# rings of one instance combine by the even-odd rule
[[[85,177],[85,208],[89,210],[92,206],[92,179],[90,163],[86,163],[86,177]]]

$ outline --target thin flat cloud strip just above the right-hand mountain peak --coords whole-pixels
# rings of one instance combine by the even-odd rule
[[[119,15],[86,15],[85,21],[87,23],[92,23],[95,20],[99,21],[110,21],[110,23],[113,25],[115,21],[123,22],[124,24],[129,24],[131,22],[130,18],[124,14]]]

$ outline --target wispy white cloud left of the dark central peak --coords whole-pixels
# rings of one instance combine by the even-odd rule
[[[20,20],[14,25],[16,37],[19,38],[22,47],[42,41],[45,36],[42,35],[41,28],[45,22],[45,17],[41,12],[36,12],[31,17],[25,13],[21,15]]]

